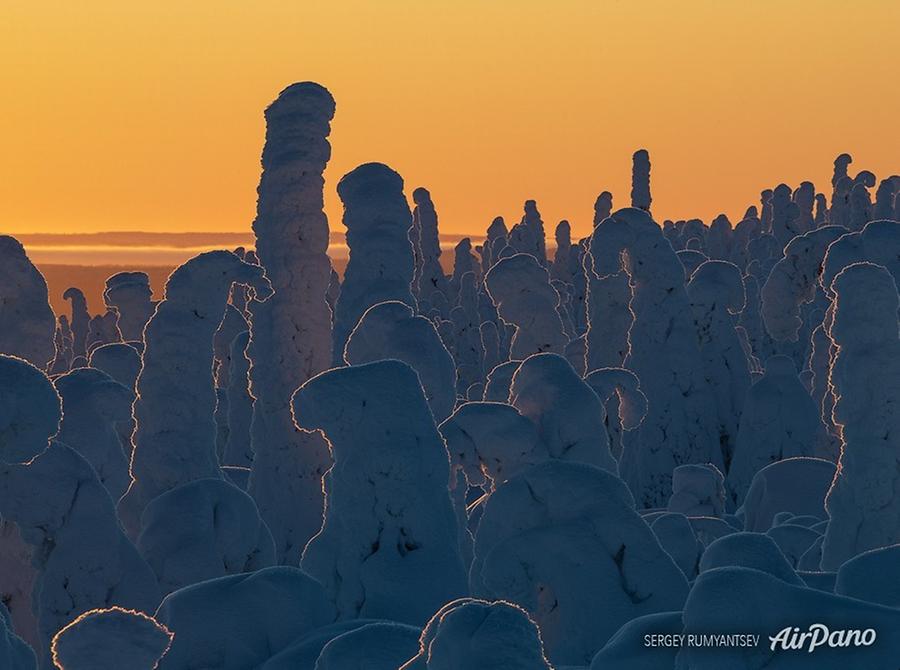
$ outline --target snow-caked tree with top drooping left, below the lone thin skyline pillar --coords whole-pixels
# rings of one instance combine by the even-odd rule
[[[660,227],[638,209],[619,210],[591,241],[600,277],[625,272],[634,322],[625,366],[649,402],[633,450],[629,485],[640,506],[660,507],[672,491],[672,470],[687,463],[722,466],[716,404],[684,288],[684,269]]]

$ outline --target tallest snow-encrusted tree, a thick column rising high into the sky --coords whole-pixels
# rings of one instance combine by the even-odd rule
[[[334,99],[312,82],[292,84],[266,110],[257,193],[256,253],[275,294],[251,301],[250,383],[254,454],[249,492],[275,538],[280,562],[296,565],[322,523],[328,448],[298,432],[294,390],[331,365],[331,281],[322,176],[331,157]]]

